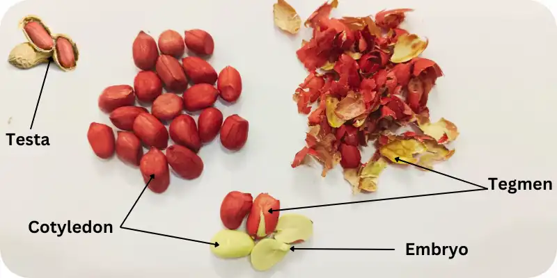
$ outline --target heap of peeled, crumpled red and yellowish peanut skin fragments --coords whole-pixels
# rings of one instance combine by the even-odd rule
[[[459,133],[444,118],[430,122],[427,97],[443,72],[419,57],[428,41],[400,28],[412,9],[382,10],[375,19],[331,18],[337,6],[336,0],[324,3],[304,24],[313,28],[313,37],[302,41],[296,54],[309,75],[294,99],[299,113],[308,114],[309,131],[292,167],[313,157],[325,177],[340,163],[354,193],[373,192],[389,163],[432,168],[450,158],[455,151],[446,144]],[[274,20],[292,34],[301,26],[283,0],[274,5]],[[413,131],[401,132],[402,127]],[[370,141],[376,152],[361,163],[360,147]]]

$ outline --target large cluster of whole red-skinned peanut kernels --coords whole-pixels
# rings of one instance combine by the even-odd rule
[[[182,58],[186,47],[196,56]],[[158,46],[150,35],[139,32],[132,45],[134,63],[141,70],[134,86],[111,85],[98,99],[100,110],[110,113],[112,124],[122,131],[115,139],[111,126],[91,123],[87,138],[93,152],[104,159],[116,152],[121,161],[139,166],[152,192],[163,193],[170,184],[168,165],[183,179],[201,175],[204,166],[197,152],[217,135],[226,149],[242,149],[248,137],[248,121],[239,115],[223,120],[221,111],[213,107],[218,97],[227,103],[237,101],[242,79],[230,66],[217,74],[203,59],[213,51],[212,36],[201,29],[185,31],[184,38],[166,30],[159,36]],[[188,88],[188,83],[193,85]],[[182,97],[177,95],[182,92]],[[136,99],[150,104],[151,111],[135,106]],[[184,110],[201,111],[197,124],[194,117],[182,113]],[[168,146],[169,137],[175,145]],[[149,148],[146,154],[143,145]]]

